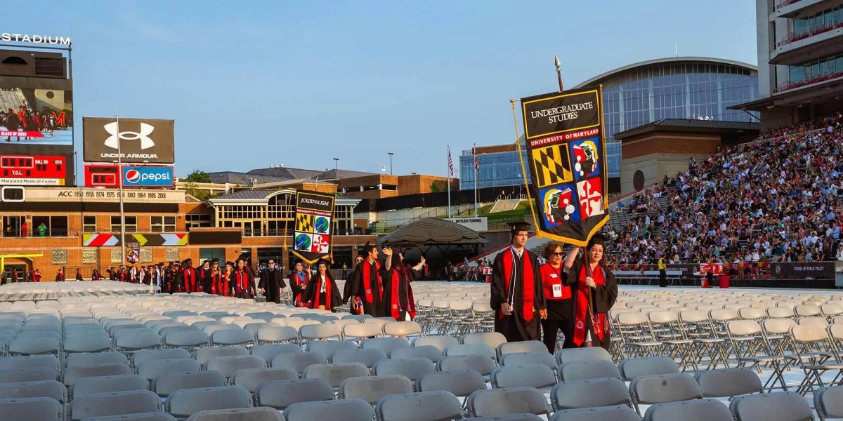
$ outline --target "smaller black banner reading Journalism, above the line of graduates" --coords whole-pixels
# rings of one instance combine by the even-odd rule
[[[319,258],[330,261],[333,220],[334,195],[298,190],[293,254],[309,264]]]

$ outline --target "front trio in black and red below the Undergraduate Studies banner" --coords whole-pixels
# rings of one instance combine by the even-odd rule
[[[526,246],[529,224],[512,224],[509,248],[492,265],[491,307],[495,331],[508,342],[540,340],[553,354],[557,334],[562,348],[609,349],[608,313],[618,296],[615,275],[608,268],[604,237],[593,236],[580,255],[572,248],[564,258],[562,244],[549,242],[545,264]]]

